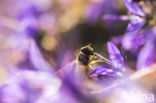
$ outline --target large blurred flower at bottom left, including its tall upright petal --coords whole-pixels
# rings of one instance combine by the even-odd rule
[[[76,94],[54,74],[32,39],[29,57],[36,71],[18,69],[9,74],[7,83],[0,87],[1,103],[78,103]]]

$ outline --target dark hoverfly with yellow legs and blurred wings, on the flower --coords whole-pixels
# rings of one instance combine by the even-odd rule
[[[74,67],[75,72],[80,72],[84,75],[88,75],[88,73],[94,70],[92,65],[99,62],[107,62],[108,64],[111,64],[109,60],[107,60],[100,54],[95,53],[94,49],[91,47],[91,44],[88,44],[80,49],[80,52],[74,61],[66,65],[64,68],[60,69],[57,74],[62,76],[67,72],[70,72],[71,69],[73,69],[72,66],[76,64],[76,66]]]

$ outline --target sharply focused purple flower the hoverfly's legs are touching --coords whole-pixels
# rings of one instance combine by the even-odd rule
[[[94,71],[90,73],[91,76],[97,77],[97,78],[102,78],[102,77],[111,77],[111,78],[118,78],[122,77],[122,71],[125,71],[125,62],[124,58],[121,56],[120,51],[118,48],[111,42],[107,43],[107,50],[108,50],[108,55],[110,58],[109,60],[106,59],[101,59],[104,60],[109,66],[100,66],[96,67]]]

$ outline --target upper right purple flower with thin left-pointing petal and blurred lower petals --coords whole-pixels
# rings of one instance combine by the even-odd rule
[[[122,46],[125,49],[130,50],[133,45],[135,50],[138,49],[144,42],[144,38],[142,35],[137,35],[138,32],[142,29],[145,25],[147,20],[145,19],[146,14],[144,13],[141,5],[139,4],[140,1],[134,0],[124,0],[124,3],[131,13],[130,16],[115,16],[115,15],[106,15],[104,19],[114,19],[114,20],[130,20],[125,35],[122,37]]]

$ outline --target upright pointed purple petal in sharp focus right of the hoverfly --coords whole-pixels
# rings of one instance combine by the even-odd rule
[[[112,61],[112,63],[114,64],[115,68],[123,70],[125,63],[124,63],[124,59],[121,56],[118,48],[113,43],[108,42],[107,50],[108,50],[109,58]]]

